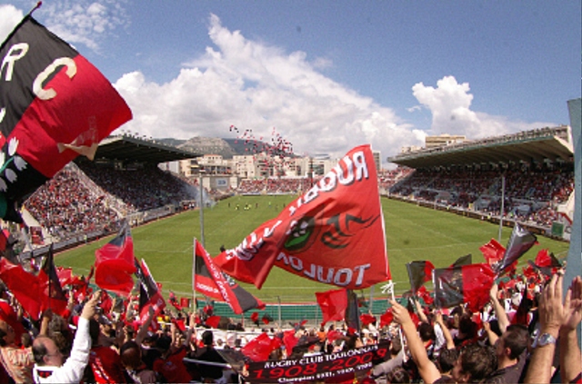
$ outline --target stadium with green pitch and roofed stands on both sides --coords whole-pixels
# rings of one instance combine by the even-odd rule
[[[565,259],[574,214],[572,148],[570,127],[558,126],[388,158],[397,167],[380,172],[378,184],[396,294],[409,290],[406,262],[424,260],[429,254],[428,259],[436,265],[445,265],[467,253],[473,255],[474,262],[479,262],[478,247],[491,238],[502,243],[507,241],[515,222],[539,235],[538,249],[548,248],[558,258]],[[75,273],[86,275],[95,261],[95,250],[127,220],[133,227],[136,257],[147,261],[156,281],[167,289],[165,295],[172,290],[191,298],[193,238],[206,240],[206,249],[211,254],[218,253],[221,246],[235,247],[250,231],[274,217],[298,193],[306,191],[314,179],[321,177],[242,179],[236,188],[228,188],[226,192],[203,189],[201,196],[200,175],[186,177],[167,171],[167,163],[190,161],[202,154],[131,134],[107,138],[99,145],[94,162],[75,160],[26,200],[23,217],[30,228],[30,241],[16,242],[25,244],[22,250],[15,249],[17,258],[20,261],[37,258],[52,243],[57,265],[72,267]],[[213,174],[204,179],[221,177],[224,175]],[[204,219],[199,219],[197,210],[201,197],[206,207],[202,228],[200,220]],[[391,216],[400,210],[403,210],[401,217]],[[219,216],[216,219],[215,214]],[[241,221],[234,221],[241,214]],[[403,221],[416,214],[422,216],[413,222],[415,227],[403,230]],[[452,223],[451,228],[441,232],[446,218],[462,222]],[[232,226],[225,226],[225,221],[234,222]],[[418,232],[415,238],[411,233],[418,231],[420,223],[425,228],[429,225],[435,228]],[[477,225],[477,230],[470,234],[473,237],[451,241],[455,232],[469,227],[468,223]],[[484,228],[487,233],[483,233]],[[182,230],[184,239],[178,239],[176,233]],[[148,231],[165,235],[155,238]],[[417,244],[426,242],[428,231],[438,233],[436,242],[447,237],[445,242],[450,243],[418,247]],[[15,237],[22,237],[18,231],[13,232]],[[172,245],[180,244],[181,252],[168,253],[165,244],[168,236]],[[144,248],[142,239],[148,244]],[[152,245],[154,241],[163,244]],[[522,263],[535,257],[533,251],[530,253]],[[167,266],[176,264],[186,268],[166,271]],[[320,319],[314,292],[330,290],[333,286],[312,283],[285,271],[273,274],[275,277],[266,281],[263,290],[243,284],[271,304],[266,313],[281,320]],[[280,281],[289,283],[282,285]],[[378,285],[376,290],[359,292],[374,314],[386,310],[386,295],[380,289]],[[197,299],[204,303],[200,295]],[[216,303],[216,310],[232,316],[222,304]],[[246,315],[250,316],[250,311]]]

